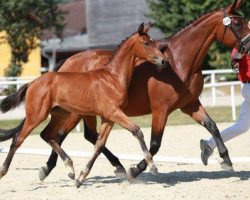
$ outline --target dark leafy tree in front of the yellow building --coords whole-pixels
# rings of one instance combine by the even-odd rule
[[[41,30],[50,29],[61,36],[65,22],[59,3],[59,0],[0,1],[0,32],[6,32],[1,42],[8,42],[11,47],[6,76],[21,74],[21,66],[28,61],[31,50],[40,45]]]

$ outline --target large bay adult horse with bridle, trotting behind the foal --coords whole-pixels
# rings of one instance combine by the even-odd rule
[[[235,1],[227,8],[204,14],[170,38],[156,41],[164,54],[170,56],[172,68],[157,73],[149,68],[149,63],[138,60],[128,91],[128,104],[124,112],[128,116],[141,116],[152,113],[152,133],[150,152],[155,155],[161,145],[162,135],[169,114],[176,109],[190,115],[195,121],[203,125],[215,138],[223,157],[223,167],[231,167],[227,149],[225,148],[215,122],[208,116],[198,97],[203,88],[201,64],[209,47],[217,40],[230,47],[242,48],[246,45],[244,39],[250,31],[246,22],[237,14],[241,1]],[[224,25],[223,19],[231,19],[231,24]],[[242,40],[241,40],[242,39]],[[245,50],[246,51],[246,50]],[[86,72],[97,69],[106,63],[111,52],[94,50],[78,53],[59,68],[64,72]],[[135,95],[136,94],[136,95]],[[68,132],[80,121],[75,114],[67,120],[60,116],[51,118],[43,132],[55,131],[64,133],[60,143]],[[95,144],[98,138],[95,117],[84,117],[85,138]],[[13,137],[16,129],[2,132],[0,139]],[[122,164],[107,148],[102,153],[116,167],[115,173],[125,173]],[[52,152],[47,165],[40,169],[40,179],[48,176],[55,167],[57,154]],[[204,163],[207,164],[207,163]],[[145,161],[140,162],[137,168],[130,173],[137,176],[146,169]]]

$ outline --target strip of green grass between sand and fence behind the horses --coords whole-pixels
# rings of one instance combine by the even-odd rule
[[[237,116],[239,115],[240,107],[237,107]],[[232,122],[232,113],[231,107],[207,107],[206,111],[210,115],[210,117],[216,122]],[[151,126],[151,115],[145,115],[141,117],[132,117],[131,118],[137,125],[140,127],[150,127]],[[17,126],[20,123],[20,120],[0,120],[0,128],[2,129],[10,129]],[[38,126],[33,133],[39,134],[46,124],[48,120],[43,122],[40,126]],[[100,122],[99,122],[100,123]],[[193,124],[196,123],[192,118],[183,114],[180,110],[173,112],[168,119],[167,125],[182,125],[182,124]],[[82,126],[82,123],[81,123]],[[121,128],[118,125],[115,125],[115,129]]]

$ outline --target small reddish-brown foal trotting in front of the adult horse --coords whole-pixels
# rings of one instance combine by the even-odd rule
[[[148,29],[149,26],[141,24],[138,32],[128,37],[101,69],[86,73],[49,72],[3,99],[0,108],[6,112],[19,105],[25,97],[26,119],[20,126],[20,133],[13,138],[7,158],[0,168],[0,178],[7,173],[18,147],[51,112],[60,115],[62,120],[67,119],[71,112],[80,116],[102,117],[100,135],[96,141],[93,156],[76,181],[77,187],[89,174],[101,149],[105,146],[114,123],[126,128],[138,139],[151,171],[157,172],[152,155],[145,144],[143,133],[122,111],[127,102],[127,90],[136,57],[152,62],[160,69],[167,63],[165,56],[147,35]],[[149,65],[149,67],[152,66]],[[57,132],[43,132],[41,137],[60,155],[65,165],[71,170],[70,177],[74,178],[73,162],[58,145],[57,135]]]

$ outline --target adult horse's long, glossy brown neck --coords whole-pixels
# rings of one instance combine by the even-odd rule
[[[215,41],[218,15],[202,18],[174,35],[168,42],[173,68],[183,82],[189,82],[196,72],[201,71],[202,61]]]

